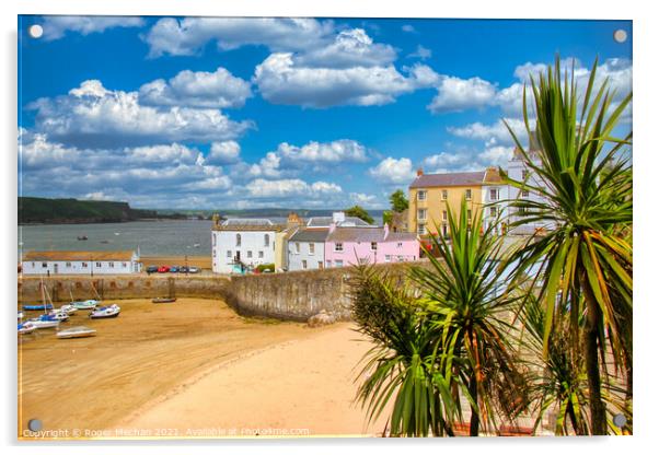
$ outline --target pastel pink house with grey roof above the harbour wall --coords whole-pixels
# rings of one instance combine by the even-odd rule
[[[325,267],[343,267],[360,262],[384,264],[417,260],[419,242],[416,234],[392,232],[384,228],[330,226],[325,240]]]

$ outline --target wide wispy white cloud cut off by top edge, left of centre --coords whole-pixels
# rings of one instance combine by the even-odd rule
[[[207,43],[220,49],[263,45],[270,50],[302,50],[326,44],[334,33],[332,21],[280,18],[186,18],[159,20],[144,36],[149,55],[189,56]]]

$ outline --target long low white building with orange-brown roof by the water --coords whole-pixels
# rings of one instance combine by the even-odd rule
[[[124,275],[139,273],[136,252],[27,252],[23,254],[24,275]]]

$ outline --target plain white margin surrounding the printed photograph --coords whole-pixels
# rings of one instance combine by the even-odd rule
[[[15,338],[13,331],[13,301],[15,299],[15,250],[16,250],[16,15],[23,14],[115,14],[115,15],[279,15],[279,16],[379,16],[379,18],[510,18],[510,19],[625,19],[634,21],[634,129],[635,129],[635,262],[636,262],[636,355],[635,355],[635,436],[609,439],[520,439],[511,440],[479,440],[479,441],[354,441],[354,440],[323,440],[323,441],[288,441],[288,442],[216,442],[216,443],[166,443],[166,446],[155,444],[139,444],[140,451],[148,453],[178,454],[181,452],[218,453],[233,452],[265,452],[268,453],[335,453],[337,451],[362,452],[378,451],[384,453],[401,453],[413,448],[415,451],[459,451],[479,452],[488,454],[509,454],[510,452],[530,452],[534,454],[570,451],[578,448],[581,452],[598,453],[633,453],[643,451],[648,446],[657,446],[656,428],[657,412],[659,411],[656,378],[657,343],[652,335],[657,331],[657,279],[654,279],[657,264],[658,235],[655,228],[657,218],[656,205],[657,185],[657,156],[659,141],[654,138],[657,131],[655,118],[657,117],[656,80],[657,80],[657,43],[659,43],[657,15],[646,4],[651,2],[610,1],[577,2],[575,0],[553,0],[551,2],[532,2],[497,0],[497,1],[451,1],[430,2],[419,0],[403,0],[400,2],[385,2],[383,0],[326,0],[325,2],[290,1],[290,0],[259,0],[259,1],[223,1],[210,4],[208,0],[158,0],[135,1],[113,0],[100,3],[99,1],[58,0],[21,0],[13,4],[2,2],[0,21],[2,23],[2,62],[1,88],[2,107],[0,108],[0,125],[2,125],[2,213],[5,221],[2,223],[4,252],[2,260],[2,289],[4,299],[2,305],[2,320],[7,330],[3,330],[2,359],[4,372],[2,383],[7,399],[1,412],[1,428],[3,430],[3,444],[10,445],[9,451],[18,450],[13,441],[15,434]],[[511,43],[511,45],[515,45]],[[652,285],[655,284],[655,285]],[[655,316],[655,317],[652,317]],[[9,325],[11,324],[11,330]],[[639,342],[641,341],[641,342]],[[13,363],[12,363],[13,362]],[[104,444],[92,450],[97,454],[116,453],[117,444]],[[123,444],[122,444],[123,445]],[[415,447],[409,447],[414,445]],[[89,452],[89,447],[81,444],[66,444],[43,447],[41,445],[26,445],[27,452],[48,451],[50,454]],[[22,448],[25,448],[22,447]],[[128,447],[126,447],[128,448]],[[656,448],[655,448],[656,450]],[[645,452],[645,451],[643,451]]]

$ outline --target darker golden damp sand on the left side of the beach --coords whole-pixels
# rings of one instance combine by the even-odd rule
[[[91,320],[79,311],[61,324],[95,328],[95,337],[60,340],[55,329],[43,329],[20,342],[20,433],[30,419],[39,419],[43,430],[68,430],[69,435],[74,429],[113,428],[217,365],[325,330],[245,319],[220,301],[117,303],[118,318]],[[173,416],[170,424],[182,421]]]

